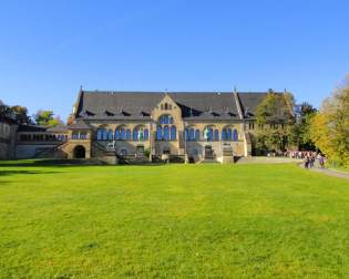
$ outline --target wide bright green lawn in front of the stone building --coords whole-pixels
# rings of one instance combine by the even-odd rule
[[[0,278],[349,278],[349,183],[295,165],[0,164]]]

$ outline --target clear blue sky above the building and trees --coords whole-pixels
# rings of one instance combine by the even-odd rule
[[[63,120],[85,90],[287,89],[349,73],[349,1],[0,0],[0,100]]]

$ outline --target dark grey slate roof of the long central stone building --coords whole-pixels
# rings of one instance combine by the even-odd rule
[[[151,112],[168,94],[185,120],[239,120],[233,92],[125,92],[81,91],[75,117],[82,120],[150,120]],[[246,117],[253,117],[265,93],[237,93]]]

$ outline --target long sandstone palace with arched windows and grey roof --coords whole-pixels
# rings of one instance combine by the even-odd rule
[[[109,164],[232,163],[252,155],[256,107],[267,94],[81,90],[72,125],[41,127],[12,123],[16,143],[7,156],[90,158]],[[10,124],[8,121],[7,125]],[[280,118],[265,128],[284,128],[284,124]]]

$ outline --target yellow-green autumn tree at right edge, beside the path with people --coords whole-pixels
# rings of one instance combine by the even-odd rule
[[[330,159],[349,165],[349,78],[324,101],[311,120],[310,134]]]

